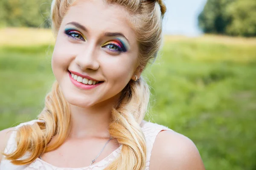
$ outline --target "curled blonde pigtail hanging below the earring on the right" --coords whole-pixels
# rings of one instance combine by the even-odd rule
[[[149,88],[142,77],[136,82],[131,80],[123,89],[119,105],[112,110],[109,126],[111,136],[122,144],[121,155],[105,170],[118,170],[119,162],[125,162],[127,170],[145,169],[146,141],[139,124],[145,116],[148,102]]]

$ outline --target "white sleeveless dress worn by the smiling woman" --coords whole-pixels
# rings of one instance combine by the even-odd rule
[[[33,124],[38,120],[32,120],[29,122],[21,123],[16,127],[19,128],[23,125],[28,125],[28,124]],[[161,130],[171,130],[166,126],[163,125],[158,125],[156,123],[152,122],[147,122],[143,125],[142,131],[145,135],[146,139],[146,147],[147,147],[147,158],[146,158],[146,167],[145,170],[149,170],[149,164],[150,164],[150,156],[151,156],[151,150],[153,148],[154,141],[156,139],[157,134]],[[15,150],[17,147],[16,142],[15,142],[15,136],[16,136],[16,131],[13,131],[7,146],[4,150],[5,153],[11,153],[12,150]],[[5,157],[3,156],[3,159],[0,163],[0,170],[103,170],[105,167],[108,166],[113,160],[119,156],[120,151],[122,149],[122,144],[120,145],[119,148],[114,150],[110,155],[108,155],[105,159],[102,159],[99,162],[94,163],[91,166],[87,167],[81,167],[81,168],[63,168],[63,167],[55,167],[39,158],[35,159],[31,164],[26,164],[26,165],[13,165],[10,161],[6,160]],[[25,158],[27,155],[25,155],[23,158]],[[22,159],[23,159],[22,158]]]

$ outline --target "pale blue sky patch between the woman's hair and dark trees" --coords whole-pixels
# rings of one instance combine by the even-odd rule
[[[164,0],[167,11],[163,20],[164,34],[198,36],[198,14],[207,0]]]

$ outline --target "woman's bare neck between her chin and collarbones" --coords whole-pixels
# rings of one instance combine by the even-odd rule
[[[110,138],[108,127],[111,123],[111,110],[116,104],[116,99],[87,108],[70,105],[72,125],[70,138]]]

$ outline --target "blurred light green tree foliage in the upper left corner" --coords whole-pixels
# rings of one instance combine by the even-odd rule
[[[49,27],[49,0],[0,0],[0,26]]]

